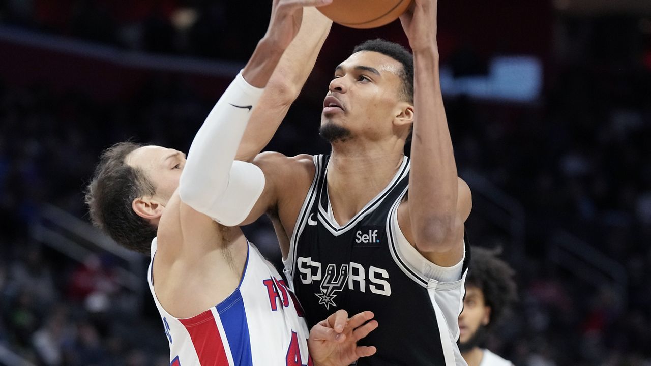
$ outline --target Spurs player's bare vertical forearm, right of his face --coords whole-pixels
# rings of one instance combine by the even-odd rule
[[[414,52],[415,122],[409,216],[417,247],[448,251],[457,218],[458,181],[439,83],[436,44]]]

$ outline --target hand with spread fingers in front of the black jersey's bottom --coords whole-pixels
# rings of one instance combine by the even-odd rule
[[[348,318],[345,310],[338,310],[313,326],[307,345],[314,366],[348,366],[361,357],[374,355],[374,346],[357,346],[357,341],[378,328],[374,316],[371,311],[363,311]]]

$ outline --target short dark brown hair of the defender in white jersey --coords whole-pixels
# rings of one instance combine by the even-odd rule
[[[104,150],[87,187],[85,201],[95,226],[118,244],[148,253],[156,237],[156,227],[133,212],[132,202],[156,191],[141,169],[125,162],[130,152],[143,146],[124,142]]]

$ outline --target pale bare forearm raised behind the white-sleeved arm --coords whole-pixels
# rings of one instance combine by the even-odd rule
[[[253,109],[236,160],[253,160],[269,143],[312,72],[331,25],[332,21],[316,8],[303,10],[301,29],[285,50],[258,106]]]

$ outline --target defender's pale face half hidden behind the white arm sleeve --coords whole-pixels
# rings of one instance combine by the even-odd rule
[[[166,204],[181,177],[186,155],[173,148],[145,146],[133,150],[126,159],[133,167],[139,167],[154,185],[155,197]]]

